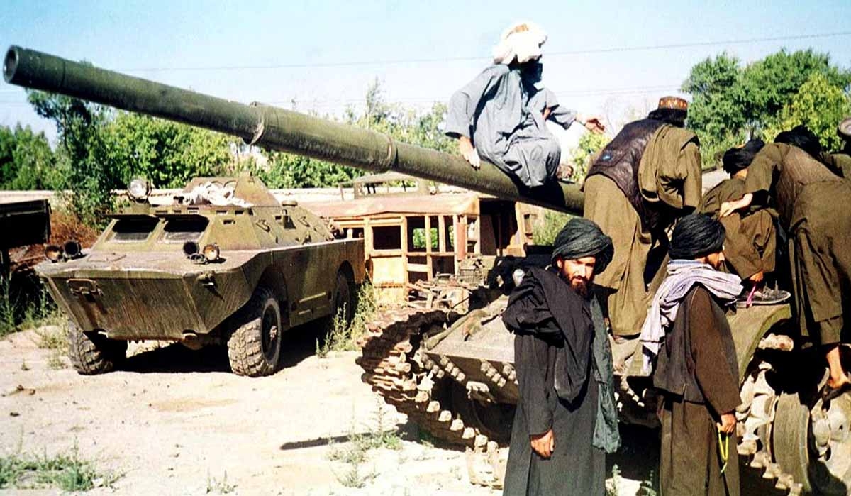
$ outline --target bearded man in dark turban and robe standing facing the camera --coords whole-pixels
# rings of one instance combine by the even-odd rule
[[[605,493],[605,453],[620,445],[611,350],[594,275],[612,240],[587,219],[558,234],[552,264],[531,268],[502,316],[515,333],[520,401],[511,430],[505,494]]]

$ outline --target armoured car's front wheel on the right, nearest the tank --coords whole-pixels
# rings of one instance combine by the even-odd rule
[[[231,370],[259,378],[275,373],[281,360],[281,308],[275,293],[258,287],[239,311],[237,328],[227,339]]]

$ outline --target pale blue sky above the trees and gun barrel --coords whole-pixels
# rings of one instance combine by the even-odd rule
[[[848,35],[558,55],[851,32],[848,0],[667,6],[639,0],[6,0],[0,49],[20,44],[231,100],[282,107],[295,102],[303,110],[339,114],[363,101],[374,78],[389,101],[420,108],[447,101],[488,63],[500,32],[518,19],[534,20],[549,33],[544,82],[563,105],[614,122],[675,92],[691,66],[723,50],[753,61],[782,47],[812,47],[851,66]],[[55,135],[31,111],[22,89],[0,84],[0,124],[18,122]]]

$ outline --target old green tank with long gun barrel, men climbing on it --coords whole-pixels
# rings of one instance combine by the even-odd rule
[[[224,132],[260,147],[374,172],[402,172],[575,215],[582,212],[577,184],[553,182],[530,191],[492,164],[472,170],[460,157],[298,112],[243,105],[18,47],[7,52],[3,75],[11,84]],[[500,485],[505,470],[501,448],[517,404],[513,338],[500,320],[511,274],[548,260],[545,253],[496,257],[488,263],[459,260],[460,275],[447,284],[468,291],[463,312],[391,310],[381,314],[363,338],[358,359],[363,380],[432,435],[470,447],[475,482]],[[741,309],[729,320],[742,372],[738,453],[790,493],[847,493],[851,395],[829,406],[817,401],[824,360],[791,339],[787,305]],[[614,354],[634,355],[637,347],[637,342],[620,344]],[[622,419],[653,425],[653,391],[636,360],[626,361],[616,374]]]

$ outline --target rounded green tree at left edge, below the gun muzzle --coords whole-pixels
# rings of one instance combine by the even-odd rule
[[[0,126],[0,189],[54,189],[60,170],[44,133]]]

